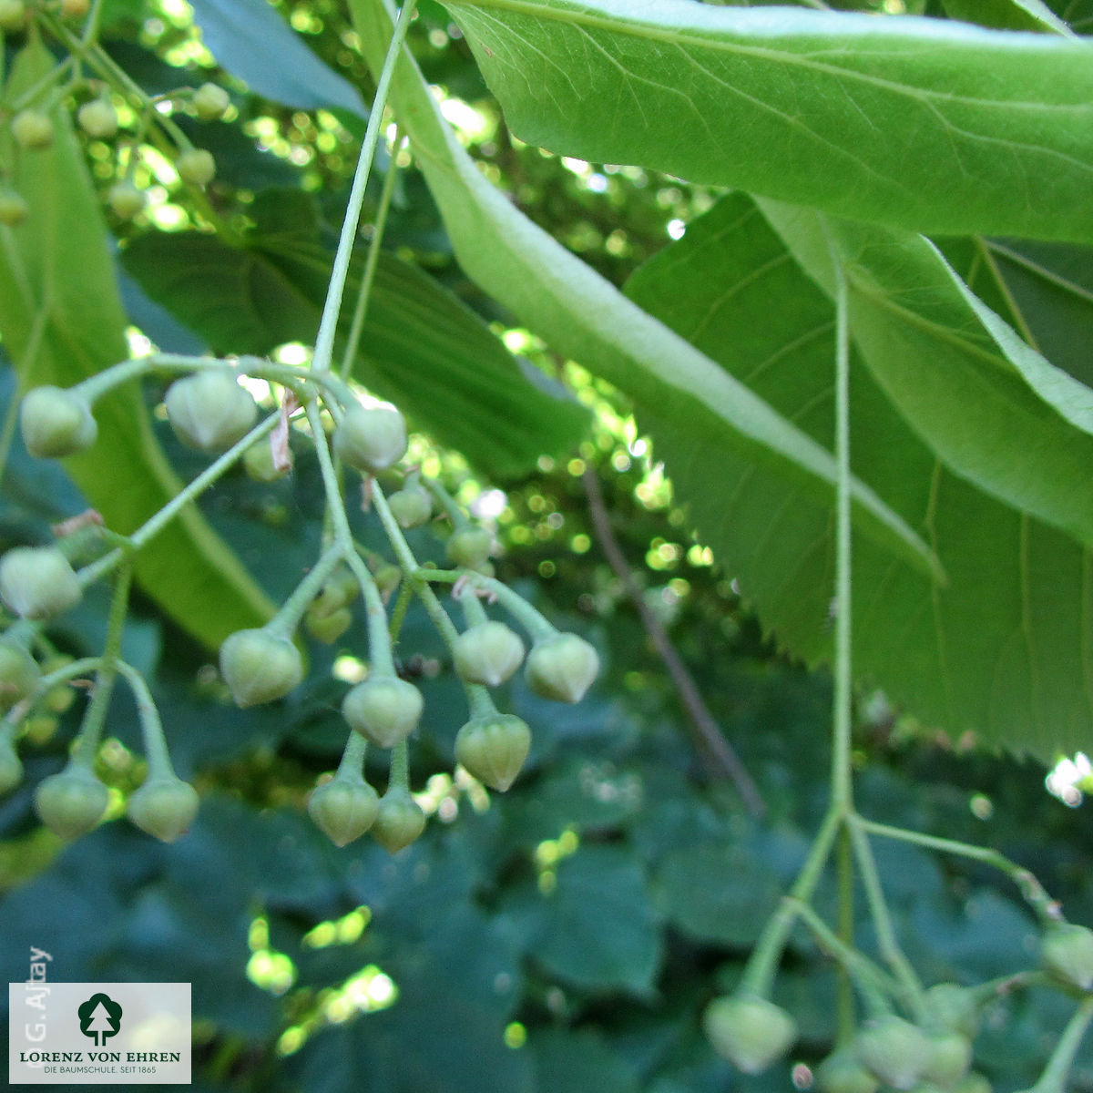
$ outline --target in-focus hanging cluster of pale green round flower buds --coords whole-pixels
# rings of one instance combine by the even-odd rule
[[[531,604],[494,578],[489,531],[471,522],[438,482],[425,479],[420,468],[399,467],[407,454],[408,435],[406,420],[397,409],[362,401],[345,384],[333,379],[325,386],[320,400],[308,384],[306,369],[293,372],[247,359],[251,374],[263,378],[275,374],[286,388],[282,413],[274,415],[277,422],[259,424],[259,408],[239,383],[242,364],[237,368],[210,360],[148,359],[144,366],[127,362],[71,389],[38,387],[27,392],[21,407],[27,449],[38,457],[57,458],[90,447],[97,432],[92,413],[95,399],[116,383],[153,371],[157,361],[185,373],[169,385],[164,398],[171,427],[185,445],[216,457],[215,467],[221,471],[242,460],[248,473],[263,481],[285,473],[290,414],[304,411],[333,514],[329,521],[332,530],[320,557],[274,616],[263,626],[231,634],[220,648],[219,663],[239,707],[277,702],[297,687],[305,674],[297,645],[301,624],[316,639],[332,643],[349,628],[360,604],[368,633],[368,648],[361,657],[367,662],[367,674],[342,700],[340,713],[348,743],[338,771],[320,779],[310,795],[308,811],[315,822],[339,846],[369,831],[391,851],[413,842],[424,828],[425,815],[410,791],[407,760],[408,741],[421,720],[424,698],[418,686],[397,671],[387,611],[399,586],[402,599],[418,596],[424,602],[467,693],[469,714],[456,736],[457,762],[485,786],[508,789],[528,757],[531,730],[519,717],[497,709],[491,689],[508,681],[522,666],[531,691],[575,703],[595,680],[599,658],[588,642],[555,630]],[[267,424],[275,424],[272,437],[267,435],[271,432]],[[373,517],[386,532],[392,559],[362,552],[350,534],[341,479],[345,469],[363,475]],[[399,478],[400,487],[390,496],[385,496],[375,479],[380,473]],[[451,525],[445,546],[451,562],[447,569],[419,565],[403,534],[438,517],[446,517]],[[142,545],[140,534],[132,537],[130,550]],[[461,630],[434,592],[440,584],[450,586],[454,601],[462,609]],[[23,620],[20,625],[37,625],[55,618],[80,599],[82,588],[81,574],[58,546],[15,548],[0,560],[0,597]],[[489,618],[486,604],[493,603],[526,632],[530,648],[507,622]],[[110,656],[104,657],[101,671],[132,673]],[[5,708],[23,716],[35,698],[56,683],[42,675],[25,648],[0,646],[0,700]],[[134,690],[142,685],[140,681]],[[139,705],[141,697],[138,692]],[[144,830],[169,839],[192,821],[197,795],[171,768],[151,697],[146,693],[143,697],[142,722],[150,721],[143,726],[146,742],[151,741],[149,777],[131,796],[129,815]],[[10,786],[17,780],[17,773],[3,776],[4,739],[0,736],[0,789],[7,788],[4,783]],[[9,765],[12,760],[17,763],[10,730],[7,743]],[[95,779],[89,762],[94,743],[84,741],[81,732],[74,751],[80,762],[47,779],[37,794],[39,814],[63,837],[90,830],[106,810],[106,789]],[[364,778],[368,747],[391,751],[389,784],[383,796]]]

